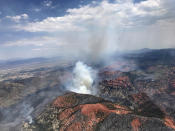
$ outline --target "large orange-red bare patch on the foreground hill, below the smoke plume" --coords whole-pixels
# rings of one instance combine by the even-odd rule
[[[78,94],[76,95],[79,96]],[[85,129],[91,131],[110,113],[119,115],[132,113],[127,107],[111,102],[104,101],[94,104],[80,104],[80,100],[77,100],[77,96],[75,96],[74,93],[66,94],[58,97],[52,104],[57,108],[65,108],[58,115],[58,119],[61,120],[62,125],[64,125],[60,128],[60,131],[65,130],[67,125],[71,127],[68,128],[71,130],[81,131],[81,129]],[[77,115],[74,115],[75,112],[79,112],[78,116],[81,115],[81,118],[77,118]]]

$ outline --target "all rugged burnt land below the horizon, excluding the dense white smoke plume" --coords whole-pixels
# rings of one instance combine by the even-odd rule
[[[22,110],[21,103],[30,103],[26,109],[32,107],[29,115],[22,115],[8,130],[173,131],[174,56],[173,49],[146,50],[125,54],[105,65],[90,64],[98,70],[93,95],[66,91],[64,85],[72,77],[73,64],[3,75],[0,127],[10,121],[6,116],[12,110]]]

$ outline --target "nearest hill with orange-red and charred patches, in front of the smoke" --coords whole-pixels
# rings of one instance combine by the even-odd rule
[[[172,131],[174,121],[154,105],[145,94],[137,94],[133,101],[137,109],[92,95],[66,93],[55,99],[34,124],[24,129],[34,131]],[[150,108],[146,110],[147,108]]]

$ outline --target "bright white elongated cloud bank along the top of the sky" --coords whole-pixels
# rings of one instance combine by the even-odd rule
[[[155,22],[167,11],[160,0],[147,0],[137,4],[131,0],[115,3],[103,1],[96,6],[86,5],[68,9],[67,14],[62,17],[48,17],[42,21],[28,23],[27,26],[18,26],[17,28],[30,32],[82,31],[89,29],[89,26],[92,25],[108,27],[111,23],[115,27],[125,28],[138,26],[143,22]]]

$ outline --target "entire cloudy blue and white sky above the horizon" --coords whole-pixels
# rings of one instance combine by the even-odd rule
[[[175,48],[175,0],[0,0],[0,60]]]

